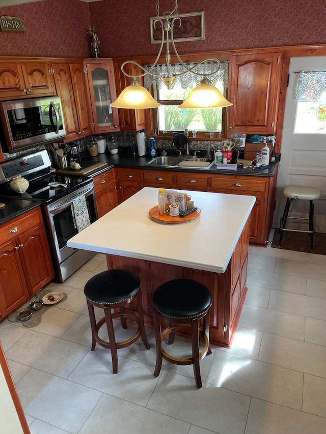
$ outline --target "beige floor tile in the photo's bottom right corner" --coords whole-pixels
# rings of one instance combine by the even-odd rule
[[[244,434],[324,434],[326,419],[252,398]]]

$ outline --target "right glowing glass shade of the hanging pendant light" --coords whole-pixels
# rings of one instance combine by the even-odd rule
[[[226,100],[222,93],[204,78],[178,108],[215,108],[230,105],[233,103]]]

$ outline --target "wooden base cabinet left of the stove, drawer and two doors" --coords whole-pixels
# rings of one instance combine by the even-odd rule
[[[0,317],[3,320],[55,275],[41,209],[0,226]]]

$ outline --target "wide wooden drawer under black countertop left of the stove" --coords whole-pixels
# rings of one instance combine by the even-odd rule
[[[0,240],[1,243],[14,240],[22,235],[26,230],[31,229],[41,223],[38,208],[31,210],[21,216],[15,217],[9,222],[0,226]],[[12,231],[12,233],[10,233]]]

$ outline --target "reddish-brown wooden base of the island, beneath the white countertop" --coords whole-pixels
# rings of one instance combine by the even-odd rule
[[[151,328],[154,327],[152,295],[157,286],[168,280],[181,278],[201,282],[209,289],[213,298],[210,308],[210,343],[230,348],[247,294],[249,227],[250,219],[243,229],[225,273],[219,274],[117,255],[106,255],[107,268],[126,269],[139,276],[145,325]],[[128,307],[137,310],[133,302]]]

